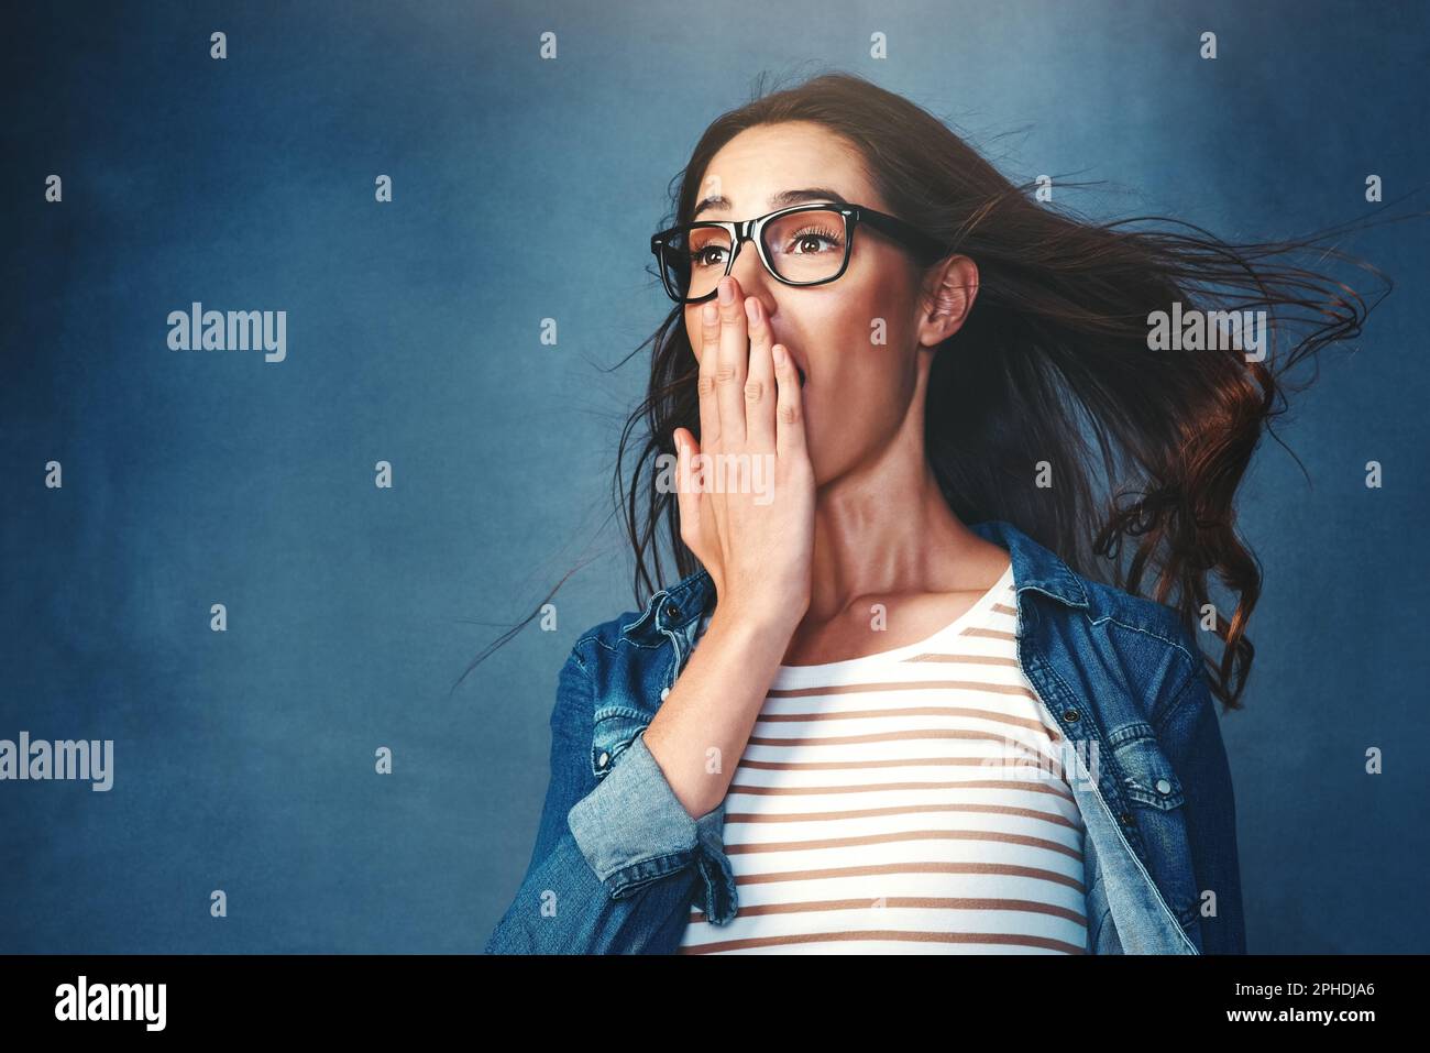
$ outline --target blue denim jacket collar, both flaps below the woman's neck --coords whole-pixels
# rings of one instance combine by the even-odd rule
[[[1067,607],[1088,607],[1084,579],[1057,554],[1040,545],[1011,522],[985,519],[968,526],[984,541],[1008,549],[1012,564],[1014,589],[1021,595],[1032,589],[1052,597]],[[632,642],[658,644],[666,632],[684,632],[715,608],[715,582],[709,571],[701,569],[675,585],[664,588],[645,605],[635,621],[622,625],[621,632]]]

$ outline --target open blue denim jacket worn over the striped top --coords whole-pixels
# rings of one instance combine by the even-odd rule
[[[1177,614],[1075,574],[1008,522],[1018,661],[1061,728],[1084,823],[1095,954],[1244,954],[1231,773],[1195,641]],[[536,844],[485,951],[676,953],[691,906],[739,904],[725,805],[691,817],[642,733],[715,605],[699,571],[583,634],[551,714]]]

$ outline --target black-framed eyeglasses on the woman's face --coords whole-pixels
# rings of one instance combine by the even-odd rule
[[[854,232],[867,223],[909,249],[919,262],[947,255],[930,235],[898,216],[862,205],[795,205],[756,219],[682,223],[651,237],[661,282],[676,303],[701,303],[718,292],[739,246],[755,243],[761,262],[785,285],[825,285],[849,266]]]

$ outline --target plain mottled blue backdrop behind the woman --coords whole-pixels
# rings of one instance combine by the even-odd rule
[[[1113,180],[1107,217],[1260,240],[1383,207],[1369,173],[1387,200],[1430,179],[1427,11],[9,6],[0,738],[112,738],[114,788],[0,783],[0,950],[480,949],[533,843],[556,672],[633,605],[608,516],[648,352],[613,366],[671,306],[648,239],[758,72],[861,73],[1012,177]],[[1223,731],[1253,951],[1430,949],[1426,245],[1343,246],[1397,289],[1278,425],[1310,479],[1268,441],[1241,498],[1266,592]],[[287,359],[169,351],[193,300],[287,310]],[[558,630],[449,692],[582,559]]]

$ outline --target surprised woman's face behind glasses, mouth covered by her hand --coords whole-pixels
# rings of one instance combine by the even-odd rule
[[[729,206],[696,205],[692,220],[754,219],[781,207],[771,205],[776,193],[811,187],[892,212],[865,179],[852,146],[821,124],[791,122],[752,127],[728,142],[705,169],[696,200],[724,196]],[[819,195],[794,203],[821,200],[835,202]],[[904,425],[919,373],[932,361],[919,353],[921,339],[947,335],[922,316],[922,269],[901,246],[861,225],[848,269],[827,285],[781,283],[759,262],[754,242],[741,245],[731,276],[739,293],[758,298],[774,342],[805,372],[805,431],[817,484],[874,464]],[[704,306],[685,308],[696,359],[705,353]]]

